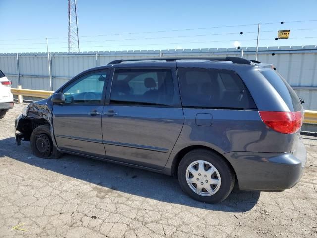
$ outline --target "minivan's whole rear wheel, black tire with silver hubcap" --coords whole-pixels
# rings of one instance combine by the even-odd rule
[[[188,152],[178,166],[182,190],[202,202],[218,203],[226,199],[233,189],[234,178],[228,163],[209,150]]]

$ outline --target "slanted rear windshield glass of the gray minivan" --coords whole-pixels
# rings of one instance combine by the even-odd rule
[[[291,111],[297,112],[302,110],[302,104],[298,96],[281,75],[272,69],[260,72],[284,99],[286,105]]]

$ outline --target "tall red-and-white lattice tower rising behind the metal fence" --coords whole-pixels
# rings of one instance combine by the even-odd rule
[[[68,52],[80,51],[76,0],[68,0]]]

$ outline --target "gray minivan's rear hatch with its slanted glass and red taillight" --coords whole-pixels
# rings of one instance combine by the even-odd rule
[[[274,87],[281,100],[284,101],[283,103],[287,105],[288,110],[287,112],[260,112],[260,115],[264,123],[273,130],[279,133],[294,135],[291,149],[291,152],[294,152],[298,147],[298,140],[300,139],[304,109],[292,87],[272,68],[272,65],[270,67],[259,67],[259,71]]]

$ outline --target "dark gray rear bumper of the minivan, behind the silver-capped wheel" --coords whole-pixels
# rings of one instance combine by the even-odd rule
[[[294,153],[230,152],[224,156],[236,172],[239,189],[282,191],[301,178],[306,148],[299,140]]]

